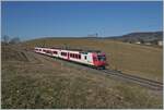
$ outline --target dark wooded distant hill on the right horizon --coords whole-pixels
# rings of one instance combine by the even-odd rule
[[[145,33],[131,33],[122,36],[106,37],[108,39],[116,39],[121,41],[154,41],[163,39],[163,32],[145,32]]]

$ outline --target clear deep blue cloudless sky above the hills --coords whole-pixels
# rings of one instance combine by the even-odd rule
[[[119,36],[163,29],[162,1],[3,1],[1,36]]]

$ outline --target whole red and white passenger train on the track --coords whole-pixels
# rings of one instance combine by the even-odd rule
[[[42,48],[35,47],[35,52],[60,58],[81,64],[91,65],[96,69],[105,69],[106,56],[96,50],[62,49],[62,48]]]

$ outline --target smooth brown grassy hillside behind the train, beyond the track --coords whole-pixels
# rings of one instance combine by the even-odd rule
[[[113,40],[96,39],[36,39],[27,41],[25,47],[35,46],[70,46],[79,48],[99,49],[107,54],[108,69],[120,70],[155,81],[163,78],[162,48],[125,44]]]

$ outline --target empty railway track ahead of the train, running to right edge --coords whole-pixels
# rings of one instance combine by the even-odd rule
[[[163,83],[161,83],[161,82],[156,82],[156,81],[152,81],[152,80],[134,76],[134,75],[125,74],[119,71],[113,71],[113,70],[101,70],[101,71],[108,75],[116,76],[117,78],[121,78],[121,80],[130,82],[130,83],[139,84],[140,86],[144,86],[144,87],[155,89],[155,90],[163,90]]]

